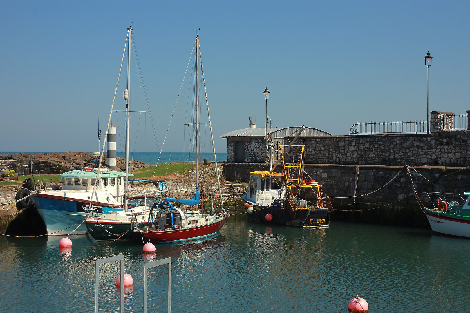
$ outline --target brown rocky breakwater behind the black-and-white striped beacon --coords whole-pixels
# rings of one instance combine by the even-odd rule
[[[19,175],[30,175],[31,161],[33,163],[33,170],[40,170],[41,174],[62,174],[74,169],[81,169],[84,167],[93,167],[94,156],[86,152],[64,152],[64,153],[15,153],[11,159],[16,160],[12,164],[13,170]],[[95,161],[94,167],[98,166],[99,160]],[[129,160],[129,170],[139,168],[147,168],[152,166],[141,161]],[[106,154],[103,155],[102,167],[106,167]],[[116,158],[116,170],[121,171],[125,169],[125,159]]]

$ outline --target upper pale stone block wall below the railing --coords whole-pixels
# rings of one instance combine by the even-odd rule
[[[470,132],[305,138],[305,163],[470,166]]]

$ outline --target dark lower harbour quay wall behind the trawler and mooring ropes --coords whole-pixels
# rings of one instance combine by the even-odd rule
[[[332,214],[332,219],[423,228],[429,228],[429,223],[419,208],[414,188],[420,195],[421,201],[429,200],[424,191],[462,195],[464,191],[470,191],[470,184],[467,183],[470,181],[470,168],[411,168],[412,181],[407,168],[401,170],[402,168],[401,166],[305,164],[304,177],[318,181],[323,186],[325,196],[354,197],[356,189],[356,198],[331,198],[336,210]],[[265,163],[227,163],[224,175],[227,180],[248,183],[251,171],[263,169],[267,170]],[[276,168],[276,172],[282,171],[282,166]],[[397,174],[398,176],[392,180]],[[388,183],[390,180],[392,182]],[[376,191],[381,187],[383,188]],[[358,197],[372,191],[376,192]]]

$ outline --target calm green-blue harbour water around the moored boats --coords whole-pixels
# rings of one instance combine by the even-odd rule
[[[1,312],[94,312],[94,260],[125,255],[134,285],[125,312],[142,312],[143,264],[172,258],[172,312],[468,312],[470,240],[427,229],[334,221],[329,229],[266,226],[232,217],[216,237],[157,245],[104,246],[71,237],[0,239]],[[99,243],[102,244],[102,243]],[[100,270],[100,312],[119,312],[119,264]],[[149,312],[166,312],[166,268],[149,275]],[[392,305],[394,310],[391,310]]]

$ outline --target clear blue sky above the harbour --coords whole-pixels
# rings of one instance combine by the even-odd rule
[[[164,152],[190,149],[191,70],[176,100],[196,28],[217,152],[227,152],[220,136],[249,127],[250,116],[265,127],[266,87],[272,127],[348,135],[356,122],[424,121],[428,51],[430,110],[470,110],[469,1],[1,0],[0,8],[0,151],[97,151],[98,115],[104,137],[131,25],[147,91],[133,59],[131,110],[147,111],[131,113],[134,152],[159,152],[163,142]],[[125,110],[126,76],[124,64],[115,110]],[[112,122],[123,151],[125,115]],[[202,137],[211,151],[205,125]]]

